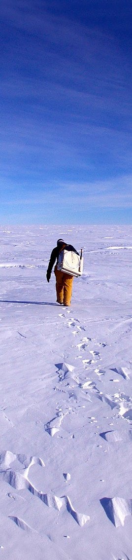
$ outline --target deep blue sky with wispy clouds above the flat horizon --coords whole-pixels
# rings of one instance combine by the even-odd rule
[[[4,0],[1,223],[131,223],[131,0]]]

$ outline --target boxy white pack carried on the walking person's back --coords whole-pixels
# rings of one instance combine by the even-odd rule
[[[78,255],[74,251],[67,251],[63,249],[59,254],[58,270],[66,272],[71,276],[82,276],[83,273],[83,256],[82,249],[81,255]]]

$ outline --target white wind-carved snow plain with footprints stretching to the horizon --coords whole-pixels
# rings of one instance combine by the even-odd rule
[[[131,232],[1,227],[2,560],[132,559]],[[59,237],[83,247],[69,308]]]

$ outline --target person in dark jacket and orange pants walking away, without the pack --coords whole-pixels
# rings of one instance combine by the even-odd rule
[[[67,243],[65,243],[63,239],[58,239],[57,245],[53,249],[50,255],[49,265],[46,272],[46,279],[48,282],[50,281],[51,271],[53,269],[56,260],[56,264],[54,268],[54,273],[56,278],[56,284],[55,284],[56,297],[57,297],[56,301],[60,305],[65,305],[66,307],[69,307],[71,297],[72,297],[72,284],[73,284],[74,277],[71,276],[71,274],[62,272],[62,270],[58,270],[59,253],[63,249],[67,249],[67,251],[74,251],[74,253],[77,253],[77,255],[79,255],[78,251],[74,249],[73,245],[68,245]]]

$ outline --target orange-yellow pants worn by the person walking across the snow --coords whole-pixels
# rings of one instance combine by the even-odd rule
[[[70,305],[72,297],[73,276],[58,270],[57,265],[54,268],[56,278],[56,296],[59,304]]]

